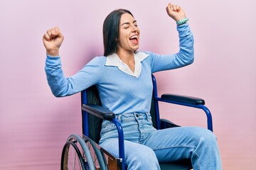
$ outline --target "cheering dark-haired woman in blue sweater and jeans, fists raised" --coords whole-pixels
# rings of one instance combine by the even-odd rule
[[[178,159],[191,159],[193,169],[222,169],[215,135],[209,130],[196,127],[156,130],[152,126],[151,74],[193,62],[193,34],[183,9],[169,4],[166,11],[178,25],[178,53],[157,55],[137,51],[140,35],[137,21],[132,13],[119,9],[112,11],[103,24],[104,56],[95,57],[68,78],[63,76],[58,54],[63,35],[59,28],[51,28],[43,35],[48,84],[58,97],[96,84],[102,106],[113,111],[122,124],[127,169],[160,169],[159,162]],[[117,130],[108,121],[102,123],[100,145],[118,156]]]

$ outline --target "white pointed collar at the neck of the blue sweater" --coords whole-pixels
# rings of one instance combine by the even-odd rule
[[[118,57],[117,53],[113,53],[112,55],[107,56],[105,66],[114,66],[117,67],[122,72],[125,72],[133,77],[139,77],[142,72],[142,61],[148,57],[149,55],[145,52],[135,52],[134,53],[134,62],[135,62],[135,69],[134,72],[128,67],[128,65]]]

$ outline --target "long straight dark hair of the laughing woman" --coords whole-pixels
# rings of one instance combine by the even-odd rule
[[[117,9],[112,11],[103,23],[103,43],[104,43],[104,56],[111,55],[117,52],[117,42],[119,39],[119,23],[122,14],[132,13],[126,9]]]

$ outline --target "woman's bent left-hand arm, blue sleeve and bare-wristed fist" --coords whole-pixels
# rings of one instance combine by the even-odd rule
[[[97,84],[102,74],[102,60],[95,57],[72,77],[65,78],[60,57],[58,56],[63,35],[58,28],[52,28],[43,35],[43,45],[46,47],[46,77],[54,96],[63,97],[76,94],[93,84]]]

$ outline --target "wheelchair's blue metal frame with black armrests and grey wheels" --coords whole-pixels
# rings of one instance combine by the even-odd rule
[[[207,125],[208,125],[208,130],[213,131],[213,122],[212,122],[212,116],[210,113],[210,110],[204,106],[205,101],[202,98],[196,98],[196,97],[191,97],[191,96],[180,96],[180,95],[175,95],[175,94],[163,94],[161,97],[158,96],[157,94],[157,86],[156,86],[156,78],[152,74],[152,82],[153,82],[153,98],[154,98],[154,111],[155,111],[155,118],[156,118],[156,129],[163,129],[163,128],[171,128],[171,127],[177,127],[178,125],[175,125],[171,123],[168,120],[160,119],[159,118],[159,101],[166,102],[166,103],[173,103],[181,106],[188,106],[188,107],[193,107],[193,108],[199,108],[202,109],[207,116]],[[89,127],[88,127],[88,114],[92,114],[97,116],[98,118],[102,120],[109,120],[110,122],[114,123],[117,127],[117,132],[119,135],[119,158],[114,158],[115,162],[117,162],[117,169],[125,169],[125,157],[124,157],[124,133],[122,130],[122,125],[119,123],[117,118],[115,118],[114,113],[112,111],[108,110],[107,108],[102,108],[102,106],[97,106],[94,104],[88,104],[87,103],[87,91],[82,91],[81,92],[81,99],[82,99],[82,136],[80,137],[79,135],[70,135],[68,137],[67,143],[70,143],[70,141],[75,141],[78,142],[83,150],[83,159],[85,159],[85,162],[82,162],[80,159],[81,164],[84,164],[82,166],[82,169],[95,169],[95,167],[92,167],[93,161],[92,157],[89,155],[90,151],[89,148],[87,147],[87,142],[92,145],[93,149],[95,152],[97,152],[97,159],[105,159],[102,157],[102,153],[104,152],[107,154],[107,156],[111,157],[111,154],[109,155],[108,152],[105,151],[105,149],[102,149],[97,145],[96,142],[90,140],[89,137]],[[85,143],[85,141],[87,141]],[[66,143],[66,145],[67,145]],[[66,146],[65,145],[65,146]],[[70,145],[70,144],[69,144]],[[99,149],[100,152],[97,150]],[[62,154],[62,166],[61,169],[63,169],[63,164],[65,163],[65,147],[63,148],[63,153]],[[89,154],[88,154],[89,153]],[[78,156],[80,157],[79,153]],[[106,162],[106,160],[100,160],[100,162]],[[101,165],[103,166],[103,165]],[[104,166],[103,169],[107,169],[107,166]]]

